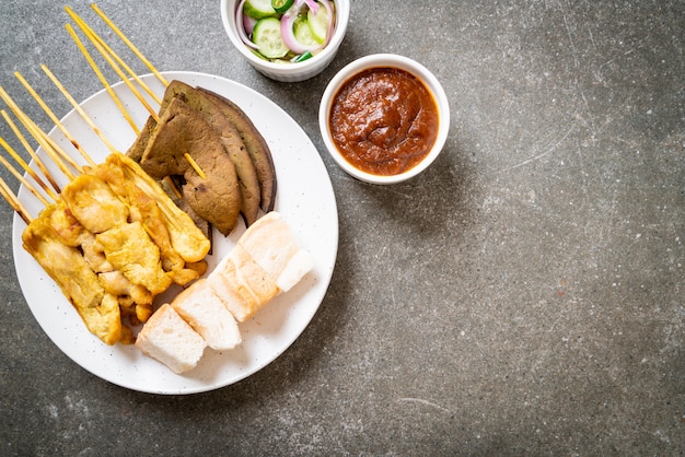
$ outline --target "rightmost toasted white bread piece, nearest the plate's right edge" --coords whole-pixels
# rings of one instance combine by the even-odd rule
[[[254,261],[288,292],[314,267],[311,255],[302,249],[277,211],[266,213],[252,224],[237,241]]]

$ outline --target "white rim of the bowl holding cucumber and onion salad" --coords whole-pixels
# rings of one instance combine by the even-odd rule
[[[268,60],[260,59],[251,52],[249,49],[247,49],[247,46],[245,46],[245,44],[241,40],[240,36],[237,36],[237,32],[235,30],[237,26],[235,24],[235,14],[229,14],[229,9],[233,10],[239,2],[240,0],[221,0],[221,22],[223,23],[223,28],[229,35],[229,39],[233,46],[243,57],[247,59],[251,65],[259,67],[271,73],[276,72],[282,75],[298,74],[304,70],[311,69],[312,67],[316,67],[320,62],[325,62],[329,55],[335,55],[337,52],[338,47],[342,43],[345,34],[347,33],[347,24],[350,16],[350,0],[334,0],[336,5],[335,31],[333,33],[333,37],[330,38],[330,43],[328,43],[328,45],[326,45],[321,52],[316,54],[311,59],[292,66],[269,62]]]

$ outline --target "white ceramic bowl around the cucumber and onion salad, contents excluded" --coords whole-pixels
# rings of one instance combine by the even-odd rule
[[[255,56],[237,35],[235,10],[240,0],[221,0],[221,21],[237,51],[262,74],[283,82],[304,81],[324,71],[338,52],[350,17],[350,0],[335,0],[336,22],[330,43],[314,57],[298,63],[275,63]]]

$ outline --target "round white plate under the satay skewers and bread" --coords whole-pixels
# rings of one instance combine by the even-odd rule
[[[223,78],[194,72],[163,74],[170,81],[177,79],[214,91],[232,99],[251,117],[274,156],[278,178],[276,210],[283,214],[301,245],[312,254],[313,271],[288,293],[266,305],[252,320],[241,325],[244,341],[237,349],[225,352],[207,349],[195,370],[176,375],[132,345],[108,347],[86,330],[59,288],[23,249],[21,234],[25,223],[16,214],[13,253],[19,282],[36,320],[76,363],[103,379],[130,389],[193,394],[249,376],[278,358],[302,333],[330,282],[338,247],[338,215],[330,179],[316,148],[279,106],[252,89]],[[163,93],[163,85],[153,75],[146,75],[143,80],[155,93]],[[123,83],[114,87],[135,124],[142,126],[148,117],[147,109]],[[105,91],[96,93],[81,106],[117,150],[125,152],[133,142],[132,128]],[[152,106],[156,108],[156,105]],[[77,113],[69,113],[62,121],[96,163],[104,161],[108,149]],[[78,151],[60,132],[53,130],[50,136],[72,156],[80,159]],[[84,163],[83,160],[79,162]],[[62,176],[55,168],[53,175]],[[43,208],[23,186],[19,198],[34,216]],[[225,238],[214,231],[213,250],[208,257],[210,269],[235,245],[243,231],[244,225],[240,225]]]

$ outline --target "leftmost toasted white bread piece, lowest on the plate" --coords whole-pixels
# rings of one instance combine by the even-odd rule
[[[136,347],[174,373],[182,374],[197,365],[207,342],[165,303],[142,327]]]

